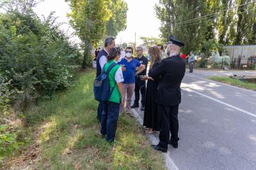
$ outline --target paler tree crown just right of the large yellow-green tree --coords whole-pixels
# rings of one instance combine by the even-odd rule
[[[116,37],[120,31],[124,31],[127,27],[128,6],[124,0],[112,0],[109,9],[112,16],[107,23],[106,35]]]

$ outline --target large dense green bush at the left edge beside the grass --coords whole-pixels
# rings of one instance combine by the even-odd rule
[[[0,15],[0,73],[22,91],[17,99],[24,106],[70,86],[80,58],[52,15],[44,22],[33,12]]]

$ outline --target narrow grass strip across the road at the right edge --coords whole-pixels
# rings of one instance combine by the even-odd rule
[[[232,79],[230,77],[213,76],[213,77],[208,77],[207,79],[210,79],[212,81],[223,82],[225,84],[237,86],[239,88],[251,89],[253,91],[256,91],[256,84],[250,83],[250,82],[239,81],[237,79]]]

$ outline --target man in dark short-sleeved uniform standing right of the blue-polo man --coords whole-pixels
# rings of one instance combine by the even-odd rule
[[[143,48],[137,47],[136,49],[137,57],[134,59],[137,59],[141,65],[145,65],[145,70],[141,73],[139,73],[135,78],[135,100],[134,104],[131,106],[131,108],[139,107],[139,101],[140,101],[140,93],[141,93],[141,111],[144,111],[145,109],[145,96],[146,96],[146,88],[145,88],[145,81],[141,81],[140,77],[143,75],[147,75],[147,65],[148,65],[148,59],[143,56]]]

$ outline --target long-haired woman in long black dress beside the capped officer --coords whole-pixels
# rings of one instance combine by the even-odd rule
[[[147,134],[152,134],[160,130],[160,115],[157,113],[157,104],[156,104],[156,92],[158,80],[152,79],[150,73],[152,70],[157,68],[161,62],[160,50],[157,46],[150,47],[148,49],[148,59],[150,59],[150,69],[148,75],[141,77],[141,80],[147,80],[147,91],[146,91],[146,101],[145,101],[145,111],[144,111],[144,121],[143,126],[147,128]]]

